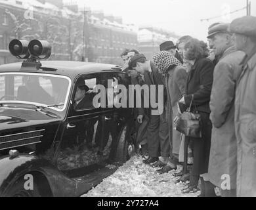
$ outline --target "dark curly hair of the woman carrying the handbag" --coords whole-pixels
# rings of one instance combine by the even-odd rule
[[[207,43],[198,39],[190,39],[184,45],[184,58],[187,60],[196,60],[198,58],[206,58],[209,55]]]

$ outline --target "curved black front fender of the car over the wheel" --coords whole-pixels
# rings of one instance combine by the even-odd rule
[[[25,175],[39,172],[45,176],[51,188],[52,196],[79,196],[79,184],[58,171],[46,159],[30,155],[19,155],[16,158],[6,156],[0,159],[0,197],[5,196],[7,190],[18,179]],[[83,186],[85,187],[85,186]]]

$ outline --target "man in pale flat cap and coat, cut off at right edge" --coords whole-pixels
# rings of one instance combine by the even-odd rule
[[[236,48],[244,51],[237,83],[235,127],[238,142],[237,196],[256,196],[256,17],[230,24]]]

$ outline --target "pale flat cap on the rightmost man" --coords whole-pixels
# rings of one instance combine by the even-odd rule
[[[230,24],[230,32],[256,37],[256,17],[243,16],[242,18],[236,18]]]

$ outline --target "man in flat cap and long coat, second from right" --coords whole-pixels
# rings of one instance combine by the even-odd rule
[[[209,177],[201,178],[205,196],[212,196],[211,184],[221,188],[221,196],[236,197],[236,135],[234,129],[234,95],[236,83],[242,72],[239,65],[244,57],[237,51],[228,32],[230,24],[216,23],[209,27],[207,38],[217,56],[213,73],[213,87],[210,100],[210,119],[213,123],[211,132],[211,151],[209,158]],[[228,175],[230,183],[223,188],[223,175]],[[205,186],[203,186],[203,184]],[[210,190],[211,189],[211,190]]]

